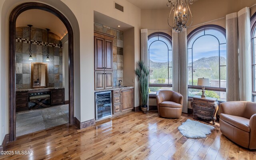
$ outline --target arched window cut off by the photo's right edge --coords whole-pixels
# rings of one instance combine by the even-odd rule
[[[256,102],[256,12],[251,18],[252,38],[252,101]]]

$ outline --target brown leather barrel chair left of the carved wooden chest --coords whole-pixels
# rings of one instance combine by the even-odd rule
[[[172,90],[156,92],[158,114],[166,118],[180,118],[182,113],[183,96]]]

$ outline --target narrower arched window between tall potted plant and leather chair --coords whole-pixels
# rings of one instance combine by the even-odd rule
[[[172,90],[172,38],[156,32],[148,36],[150,94],[161,89]]]

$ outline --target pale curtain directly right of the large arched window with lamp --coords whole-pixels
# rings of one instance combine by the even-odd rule
[[[227,101],[239,101],[238,18],[237,12],[226,15]]]

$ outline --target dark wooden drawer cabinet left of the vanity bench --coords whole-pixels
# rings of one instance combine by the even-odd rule
[[[16,92],[16,112],[28,110],[28,92]]]

